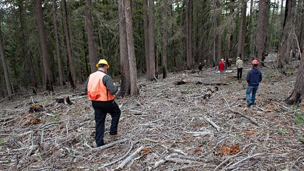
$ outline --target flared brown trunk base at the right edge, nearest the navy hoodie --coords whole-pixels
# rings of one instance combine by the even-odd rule
[[[304,50],[304,49],[302,49]],[[302,53],[304,55],[304,53]],[[304,102],[304,58],[302,57],[301,66],[295,83],[295,88],[291,95],[286,99],[287,104]]]

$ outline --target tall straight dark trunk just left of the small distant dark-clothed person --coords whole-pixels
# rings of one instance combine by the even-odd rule
[[[189,0],[187,10],[187,69],[191,70],[192,67],[192,23],[193,23],[193,12],[192,12],[192,0]]]

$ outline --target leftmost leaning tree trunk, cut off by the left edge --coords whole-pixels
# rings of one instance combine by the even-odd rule
[[[5,57],[4,57],[4,45],[3,45],[3,35],[2,35],[2,31],[1,31],[2,30],[1,23],[2,22],[0,22],[0,55],[1,55],[2,67],[3,67],[3,71],[4,71],[6,90],[7,90],[8,97],[10,98],[12,96],[12,88],[11,88],[11,82],[10,82],[9,76],[8,76]]]

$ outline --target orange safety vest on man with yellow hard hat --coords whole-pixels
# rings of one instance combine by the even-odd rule
[[[90,74],[88,81],[87,94],[90,100],[94,101],[109,101],[115,98],[109,90],[103,85],[102,78],[106,75],[101,71]]]

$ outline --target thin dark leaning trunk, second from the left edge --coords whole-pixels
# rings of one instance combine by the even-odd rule
[[[32,59],[31,59],[30,55],[28,55],[28,46],[27,46],[28,38],[27,38],[25,18],[24,18],[23,0],[19,0],[19,15],[20,15],[22,37],[23,37],[23,47],[24,47],[23,54],[24,54],[24,58],[26,59],[28,70],[29,70],[31,87],[32,87],[33,93],[36,93],[35,88],[37,88],[37,83],[36,83],[36,79],[35,79],[35,73],[34,73],[34,69],[33,69]]]

